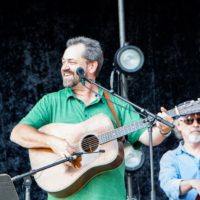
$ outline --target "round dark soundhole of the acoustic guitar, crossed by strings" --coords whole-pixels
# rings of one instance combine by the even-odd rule
[[[88,135],[82,140],[81,145],[85,152],[91,153],[98,148],[99,140],[95,135]]]

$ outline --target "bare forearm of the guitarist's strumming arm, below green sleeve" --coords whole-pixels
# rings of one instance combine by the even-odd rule
[[[52,137],[26,124],[18,124],[12,130],[10,139],[25,148],[48,148]]]

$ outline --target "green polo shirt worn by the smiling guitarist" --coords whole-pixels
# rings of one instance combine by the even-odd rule
[[[100,96],[103,90],[99,89]],[[121,125],[130,124],[140,119],[134,109],[122,100],[110,95],[115,111]],[[126,109],[124,109],[125,107]],[[85,105],[76,98],[70,88],[50,93],[40,99],[31,111],[20,121],[35,128],[53,123],[79,123],[99,113],[105,113],[110,117],[115,127],[116,121],[104,98],[97,98],[89,105]],[[143,130],[128,135],[128,140],[135,143]],[[116,169],[104,172],[92,178],[81,190],[68,198],[55,198],[48,195],[49,200],[125,200],[126,189],[124,182],[124,162]],[[53,180],[49,180],[53,181]]]

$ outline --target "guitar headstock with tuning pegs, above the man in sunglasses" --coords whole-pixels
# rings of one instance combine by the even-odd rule
[[[200,98],[198,98],[196,101],[191,100],[181,103],[178,106],[175,106],[174,110],[175,116],[172,117],[200,113]]]

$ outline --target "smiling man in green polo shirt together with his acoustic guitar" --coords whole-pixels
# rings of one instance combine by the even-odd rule
[[[88,82],[81,83],[76,73],[81,67],[85,77],[95,81],[102,65],[98,41],[86,37],[69,39],[62,57],[64,89],[45,95],[12,130],[11,140],[29,149],[32,168],[75,152],[87,153],[76,164],[68,162],[35,175],[38,185],[48,192],[49,200],[126,199],[123,149],[117,140],[106,143],[108,134],[102,135],[108,132],[109,137],[116,136],[116,121],[107,101],[94,93],[104,97],[104,91]],[[130,128],[128,140],[148,145],[149,134],[140,126],[139,114],[113,95],[110,99],[122,126],[117,134],[123,132],[124,125],[139,121],[126,127],[126,132]],[[158,115],[173,121],[165,112]],[[153,145],[160,144],[170,131],[157,123],[153,127]]]

